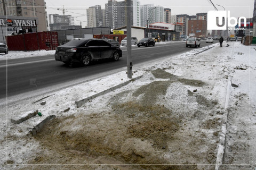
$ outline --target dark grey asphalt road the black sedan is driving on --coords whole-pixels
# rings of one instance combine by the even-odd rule
[[[201,41],[202,48],[206,44]],[[151,60],[187,52],[194,47],[186,47],[185,42],[156,44],[155,47],[132,47],[132,64],[138,64]],[[106,71],[126,67],[126,48],[122,47],[123,57],[119,61],[110,60],[94,62],[90,66],[74,65],[67,66],[62,62],[55,61],[54,55],[29,57],[0,61],[0,99],[19,95],[24,92],[54,87],[58,89],[59,84],[65,82],[76,82],[75,80],[93,77],[94,75],[105,75]],[[7,65],[7,66],[6,66]],[[7,73],[7,74],[6,74]],[[77,83],[77,82],[76,82]]]

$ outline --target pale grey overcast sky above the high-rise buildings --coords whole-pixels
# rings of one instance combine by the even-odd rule
[[[117,0],[121,1],[121,0]],[[94,5],[101,5],[101,8],[105,8],[105,4],[108,2],[107,0],[45,0],[46,2],[46,11],[47,14],[58,13],[62,15],[62,10],[57,10],[57,8],[62,9],[62,5],[66,8],[65,15],[78,16],[74,18],[75,24],[80,24],[82,21],[83,28],[86,25],[86,8]],[[239,16],[245,16],[246,18],[252,18],[253,16],[253,7],[254,0],[212,0],[213,4],[218,8],[218,10],[230,11],[230,16],[234,16],[238,18]],[[208,0],[141,0],[140,4],[154,4],[163,6],[164,8],[171,8],[171,14],[188,14],[188,15],[196,15],[196,13],[208,12],[214,10],[213,5],[209,3]],[[217,6],[221,5],[223,7]],[[70,8],[76,8],[76,10],[70,10]],[[78,9],[83,10],[78,10]],[[73,13],[70,13],[73,12]],[[81,16],[84,15],[84,16]]]

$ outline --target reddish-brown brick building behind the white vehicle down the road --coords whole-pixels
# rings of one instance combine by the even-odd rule
[[[195,37],[207,37],[207,25],[205,20],[189,20],[188,21],[188,33],[194,33]]]

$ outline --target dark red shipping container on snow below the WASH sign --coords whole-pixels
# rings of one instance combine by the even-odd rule
[[[44,31],[6,36],[9,50],[55,50],[59,46],[58,32]]]

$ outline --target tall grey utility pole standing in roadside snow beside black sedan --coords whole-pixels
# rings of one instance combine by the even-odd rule
[[[127,77],[132,78],[131,0],[126,0]]]

